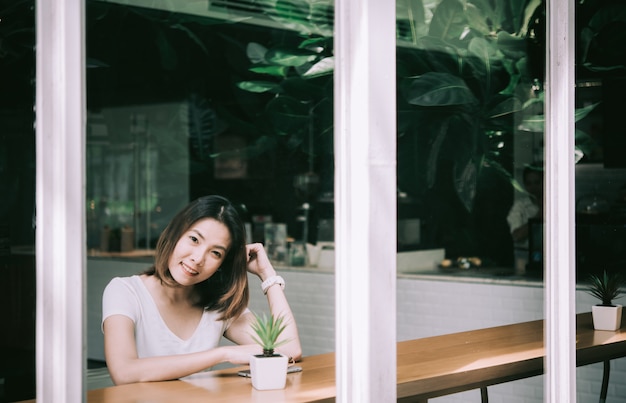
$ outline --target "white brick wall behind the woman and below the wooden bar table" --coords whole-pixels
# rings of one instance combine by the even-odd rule
[[[145,268],[142,264],[89,261],[88,351],[89,357],[103,359],[100,314],[102,290],[115,275],[130,275]],[[335,350],[335,277],[332,273],[282,270],[285,292],[298,322],[303,353],[315,355]],[[250,279],[250,309],[266,311],[267,302],[259,280]],[[507,285],[500,282],[476,283],[444,281],[433,277],[409,278],[397,282],[398,340],[435,336],[484,327],[506,325],[543,318],[543,287]],[[590,310],[595,300],[582,291],[576,294],[576,311]],[[602,364],[577,368],[577,401],[598,401]],[[492,403],[543,402],[543,376],[489,387]],[[472,390],[432,399],[434,403],[479,402]],[[626,403],[626,358],[611,363],[609,403]]]

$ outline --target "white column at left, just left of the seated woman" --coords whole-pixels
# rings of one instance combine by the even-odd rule
[[[37,0],[37,402],[84,401],[83,0]]]

